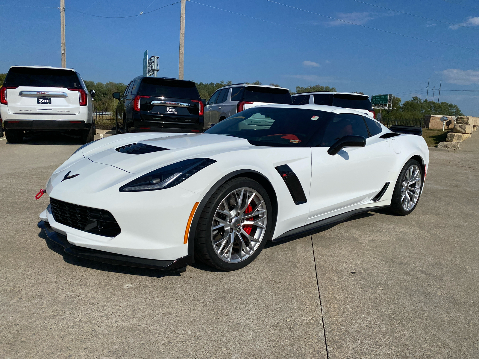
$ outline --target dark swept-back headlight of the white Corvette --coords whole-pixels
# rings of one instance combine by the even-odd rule
[[[215,163],[214,159],[192,158],[147,173],[120,187],[120,192],[156,191],[170,188]]]

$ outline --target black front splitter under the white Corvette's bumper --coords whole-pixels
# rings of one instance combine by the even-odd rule
[[[105,252],[98,249],[79,247],[69,243],[66,236],[55,232],[48,222],[38,222],[38,228],[45,230],[48,239],[62,246],[66,253],[80,258],[95,260],[97,262],[115,264],[119,266],[161,270],[178,269],[192,263],[191,256],[185,256],[175,260],[160,260],[131,257],[125,256],[123,254]]]

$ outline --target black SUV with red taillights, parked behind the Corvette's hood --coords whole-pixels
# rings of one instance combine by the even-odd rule
[[[193,81],[138,76],[116,106],[116,133],[203,132],[204,103]]]

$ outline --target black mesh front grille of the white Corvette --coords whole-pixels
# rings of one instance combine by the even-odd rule
[[[121,228],[112,213],[50,198],[55,221],[99,236],[118,236]]]

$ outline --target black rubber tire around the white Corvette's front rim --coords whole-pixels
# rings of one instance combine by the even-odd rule
[[[215,218],[215,215],[217,214],[216,211],[218,207],[220,206],[220,204],[222,203],[222,201],[231,192],[242,189],[242,188],[252,189],[262,197],[262,201],[266,207],[266,219],[265,219],[266,228],[264,229],[264,233],[262,234],[262,237],[258,238],[261,241],[259,242],[259,244],[257,244],[257,247],[254,249],[254,251],[251,254],[249,254],[249,257],[242,260],[240,259],[240,261],[238,262],[228,262],[221,259],[219,255],[217,254],[217,252],[215,251],[215,249],[213,248],[212,225],[213,225],[213,220]],[[244,213],[248,213],[248,212],[244,212]],[[239,217],[234,217],[234,218],[239,218]],[[231,224],[231,227],[233,227],[235,221],[233,221],[233,224]],[[242,227],[242,224],[240,225]],[[225,234],[229,232],[229,231],[226,232],[225,228],[224,230],[225,230]],[[254,229],[254,230],[256,231],[257,229]],[[233,231],[232,228],[231,228],[231,231]],[[250,232],[249,234],[251,233],[253,232]],[[238,236],[238,234],[236,233],[234,234]],[[259,184],[253,179],[246,178],[246,177],[231,179],[228,182],[222,184],[212,194],[208,202],[206,202],[205,204],[205,208],[203,209],[203,212],[200,215],[198,225],[196,227],[196,236],[194,241],[195,258],[198,258],[199,260],[201,260],[202,262],[204,262],[205,264],[211,267],[224,270],[224,271],[240,269],[240,268],[246,267],[256,257],[258,257],[258,255],[264,248],[266,242],[269,239],[271,239],[272,234],[273,234],[273,207],[271,205],[271,201],[269,199],[268,193],[264,190],[261,184]],[[235,237],[234,235],[232,236]],[[243,238],[246,238],[246,237],[243,237]],[[245,239],[245,241],[248,241],[248,239]],[[252,242],[250,242],[250,245],[252,246]],[[233,252],[233,249],[231,249],[231,252]]]

